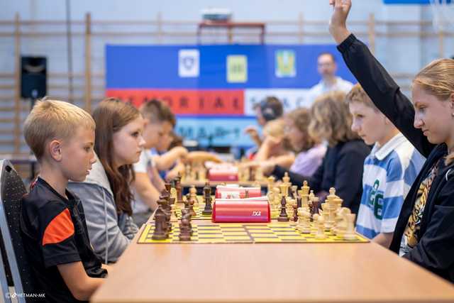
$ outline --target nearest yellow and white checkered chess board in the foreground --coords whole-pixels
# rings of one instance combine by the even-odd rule
[[[367,243],[369,240],[356,235],[354,240],[344,240],[326,231],[327,238],[316,239],[312,234],[300,233],[294,223],[269,224],[194,224],[191,241],[179,241],[179,226],[172,224],[170,237],[153,240],[154,224],[146,224],[138,243]],[[314,227],[312,227],[314,228]]]

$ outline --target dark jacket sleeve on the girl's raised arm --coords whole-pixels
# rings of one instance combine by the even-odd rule
[[[352,34],[338,45],[338,50],[375,106],[427,158],[435,145],[428,142],[420,129],[414,128],[413,105],[367,46]]]

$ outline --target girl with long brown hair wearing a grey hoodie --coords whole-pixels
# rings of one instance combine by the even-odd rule
[[[109,98],[99,103],[93,119],[98,161],[83,182],[70,182],[69,187],[84,205],[94,252],[104,263],[111,263],[120,258],[138,231],[131,219],[130,183],[132,165],[145,144],[143,118],[131,104]]]

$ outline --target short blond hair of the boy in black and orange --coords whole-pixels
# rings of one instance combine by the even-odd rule
[[[37,101],[28,114],[23,136],[36,159],[40,160],[48,141],[71,138],[80,126],[94,131],[96,124],[92,116],[80,107],[45,97]]]

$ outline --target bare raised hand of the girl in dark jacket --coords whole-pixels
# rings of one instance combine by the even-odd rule
[[[352,7],[351,0],[329,0],[329,4],[333,6],[333,15],[329,22],[329,32],[333,36],[336,43],[341,44],[343,40],[348,38],[350,32],[347,29],[347,17]]]

